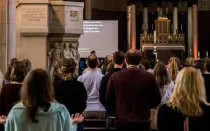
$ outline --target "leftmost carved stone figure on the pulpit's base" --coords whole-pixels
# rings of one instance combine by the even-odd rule
[[[53,48],[48,52],[48,56],[50,59],[50,67],[49,67],[50,75],[53,76],[55,68],[57,67],[59,61],[63,58],[62,49],[60,48],[58,42],[55,42],[53,44]]]

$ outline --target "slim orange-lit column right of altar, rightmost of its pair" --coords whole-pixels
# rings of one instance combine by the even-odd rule
[[[198,59],[198,5],[192,6],[192,25],[193,25],[193,57]]]

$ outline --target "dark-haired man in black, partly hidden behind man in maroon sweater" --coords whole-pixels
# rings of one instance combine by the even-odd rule
[[[109,72],[105,76],[103,76],[103,78],[101,80],[101,85],[100,85],[100,89],[99,89],[99,100],[100,100],[101,104],[104,105],[105,108],[106,108],[105,95],[106,95],[106,90],[107,90],[107,85],[108,85],[109,79],[115,72],[122,70],[124,61],[125,61],[125,54],[122,51],[116,51],[113,54],[114,70]],[[113,112],[109,112],[109,114],[112,116],[114,115]]]

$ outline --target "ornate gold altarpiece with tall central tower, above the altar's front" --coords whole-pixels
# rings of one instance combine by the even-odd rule
[[[185,35],[171,33],[171,20],[166,16],[158,17],[155,22],[155,30],[150,34],[141,34],[141,49],[144,50],[185,50]]]

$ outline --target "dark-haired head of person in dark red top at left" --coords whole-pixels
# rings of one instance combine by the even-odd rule
[[[16,61],[12,67],[10,80],[16,82],[23,82],[28,70],[25,68],[25,64],[22,61]]]

